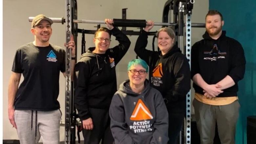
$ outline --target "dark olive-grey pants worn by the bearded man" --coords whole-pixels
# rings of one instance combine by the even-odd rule
[[[221,143],[235,144],[236,122],[240,109],[238,100],[228,105],[214,106],[194,99],[193,106],[201,144],[213,144],[216,122]]]

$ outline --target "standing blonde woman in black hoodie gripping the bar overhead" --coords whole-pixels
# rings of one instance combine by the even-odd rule
[[[157,51],[146,50],[148,32],[154,22],[147,21],[139,35],[136,45],[136,54],[149,65],[149,80],[151,86],[162,94],[169,113],[169,144],[176,144],[181,131],[185,111],[186,94],[190,90],[190,68],[187,58],[174,44],[174,31],[169,27],[161,28],[157,32]]]

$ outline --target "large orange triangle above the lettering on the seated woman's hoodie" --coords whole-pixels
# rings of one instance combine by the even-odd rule
[[[146,105],[142,102],[142,100],[139,99],[136,107],[133,110],[130,120],[146,120],[146,119],[153,119],[153,116],[148,110],[148,108],[146,107]]]

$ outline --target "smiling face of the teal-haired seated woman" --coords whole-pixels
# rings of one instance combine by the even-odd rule
[[[132,65],[130,67],[130,70],[146,71],[146,69],[143,68],[141,65]],[[128,71],[128,77],[129,77],[131,85],[137,85],[137,86],[144,85],[144,81],[146,80],[146,76],[147,76],[146,72],[144,74],[139,74],[139,72],[132,73],[132,72]]]

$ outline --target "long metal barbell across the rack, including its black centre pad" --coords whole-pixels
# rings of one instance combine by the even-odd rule
[[[29,17],[29,21],[32,22],[34,17]],[[62,18],[51,18],[54,23],[65,23],[65,19]],[[87,24],[105,24],[105,21],[97,21],[97,20],[73,20],[74,23],[87,23]],[[113,25],[116,27],[135,27],[135,28],[145,28],[146,20],[134,20],[134,19],[113,19]],[[155,26],[176,26],[177,23],[159,23],[155,22]],[[205,27],[204,23],[192,23],[192,27],[202,28]]]

